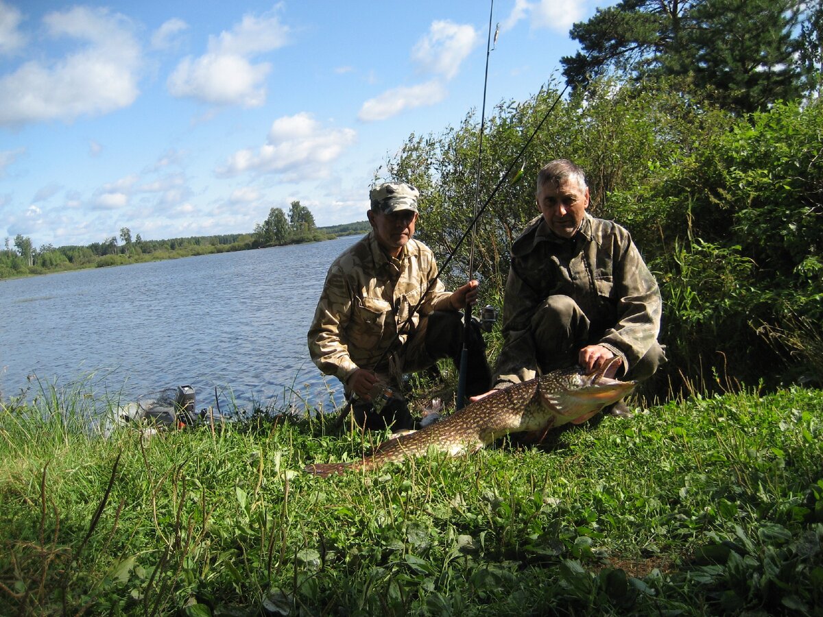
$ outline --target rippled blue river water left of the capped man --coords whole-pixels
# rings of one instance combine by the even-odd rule
[[[309,359],[326,271],[360,236],[0,281],[0,400],[51,388],[133,401],[188,384],[196,405],[329,410]]]

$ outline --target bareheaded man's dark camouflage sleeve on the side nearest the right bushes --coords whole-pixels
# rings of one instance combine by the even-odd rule
[[[658,339],[663,300],[657,281],[631,240],[616,260],[613,281],[617,322],[599,342],[622,356],[628,372]]]

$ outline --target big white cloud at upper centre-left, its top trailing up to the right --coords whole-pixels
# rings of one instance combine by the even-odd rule
[[[180,61],[166,82],[170,94],[210,104],[262,105],[271,64],[253,63],[252,58],[288,43],[288,32],[271,13],[245,15],[231,30],[210,36],[207,53]]]

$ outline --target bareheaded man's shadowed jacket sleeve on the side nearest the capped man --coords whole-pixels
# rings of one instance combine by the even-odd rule
[[[537,353],[532,337],[532,315],[542,299],[518,275],[512,262],[503,299],[503,347],[497,356],[495,388],[537,376]]]

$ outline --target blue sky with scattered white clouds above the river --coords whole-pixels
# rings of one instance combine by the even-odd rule
[[[497,0],[486,114],[559,79],[570,26],[595,7]],[[246,233],[295,199],[318,225],[365,220],[375,171],[410,134],[479,118],[489,12],[0,0],[0,239]]]

